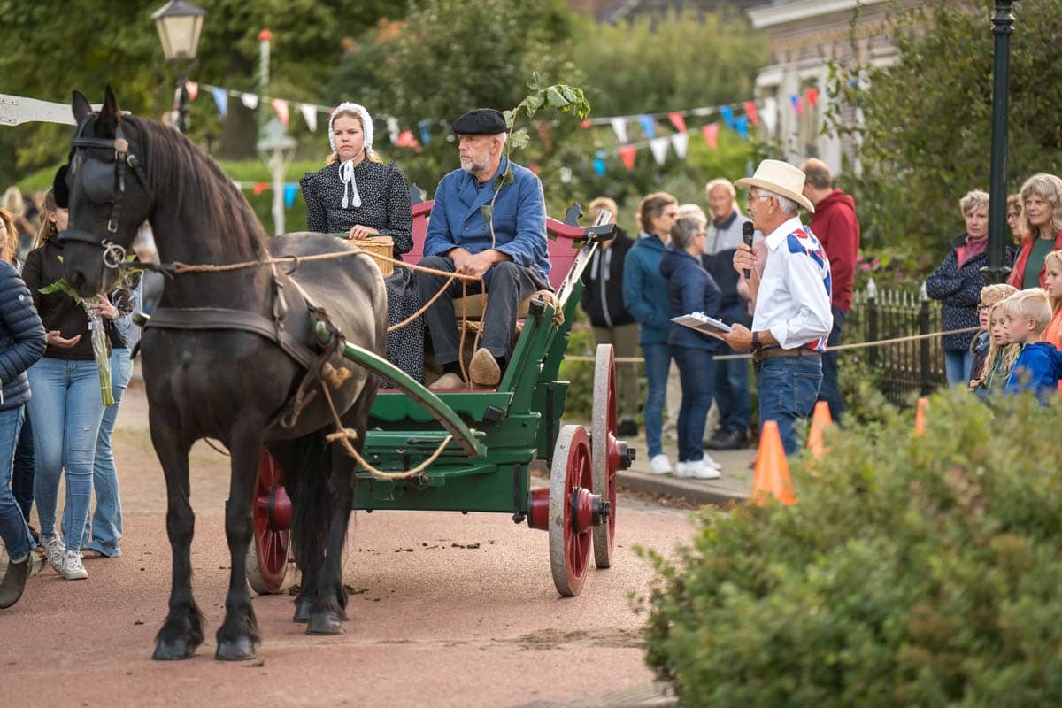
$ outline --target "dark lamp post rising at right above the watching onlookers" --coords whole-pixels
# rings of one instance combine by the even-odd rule
[[[1010,93],[1010,35],[1014,33],[1017,0],[996,0],[992,16],[995,53],[992,63],[992,174],[989,177],[989,264],[981,272],[989,282],[1003,282],[1010,269],[1004,262],[1007,224],[1007,114]]]

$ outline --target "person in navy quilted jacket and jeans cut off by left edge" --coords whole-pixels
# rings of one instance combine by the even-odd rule
[[[0,220],[0,539],[7,549],[7,572],[0,581],[0,609],[22,597],[35,542],[11,491],[15,446],[22,427],[30,385],[25,369],[45,352],[45,329],[33,298],[4,255],[6,234]]]

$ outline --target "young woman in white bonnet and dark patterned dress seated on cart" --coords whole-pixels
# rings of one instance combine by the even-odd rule
[[[413,247],[406,175],[394,162],[383,165],[373,150],[373,118],[357,103],[341,103],[328,119],[331,152],[325,167],[307,172],[298,184],[306,201],[306,230],[343,235],[353,241],[388,236],[393,258]],[[419,309],[409,269],[395,267],[384,279],[388,326]],[[424,326],[417,321],[388,333],[388,359],[424,381]],[[383,382],[389,386],[389,382]]]

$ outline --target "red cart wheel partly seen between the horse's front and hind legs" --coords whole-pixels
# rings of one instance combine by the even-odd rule
[[[254,543],[247,549],[247,582],[258,594],[276,594],[288,574],[291,499],[281,483],[280,465],[266,450],[251,501]]]

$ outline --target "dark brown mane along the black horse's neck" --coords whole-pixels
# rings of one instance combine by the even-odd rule
[[[194,205],[183,213],[194,214],[184,224],[192,232],[225,237],[245,255],[261,255],[267,235],[243,192],[218,163],[187,136],[158,121],[124,116],[141,136],[142,162],[155,190],[156,205]],[[156,206],[156,209],[158,207]]]

